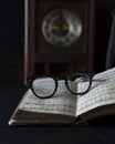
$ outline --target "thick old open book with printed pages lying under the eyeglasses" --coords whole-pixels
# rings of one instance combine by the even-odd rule
[[[86,83],[79,85],[81,91]],[[41,100],[29,89],[9,125],[82,123],[97,116],[115,114],[115,68],[95,74],[91,90],[84,95],[73,95],[64,81],[59,81],[55,94]]]

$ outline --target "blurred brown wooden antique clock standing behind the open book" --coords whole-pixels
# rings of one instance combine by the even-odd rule
[[[94,0],[25,0],[24,79],[94,71]]]

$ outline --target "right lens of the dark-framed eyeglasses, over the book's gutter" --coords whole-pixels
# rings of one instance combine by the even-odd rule
[[[69,78],[67,85],[73,93],[85,93],[90,88],[90,76],[76,73]]]

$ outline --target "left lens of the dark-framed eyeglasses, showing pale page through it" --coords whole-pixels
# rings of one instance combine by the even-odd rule
[[[52,78],[38,78],[32,83],[34,93],[40,97],[46,97],[54,93],[55,81]]]

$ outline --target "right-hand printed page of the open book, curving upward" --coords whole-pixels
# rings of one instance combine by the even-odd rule
[[[79,85],[80,92],[87,83]],[[115,103],[115,68],[96,74],[90,92],[77,95],[77,115],[97,106]]]

